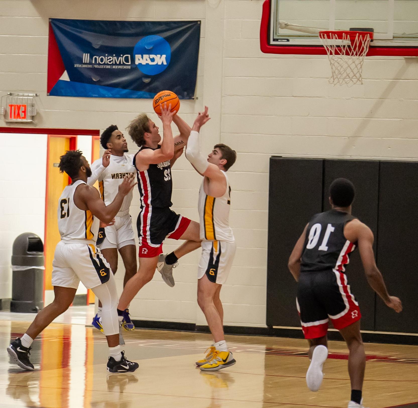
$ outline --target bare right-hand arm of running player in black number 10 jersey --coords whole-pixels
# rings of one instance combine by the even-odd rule
[[[388,307],[398,313],[402,311],[402,302],[399,298],[389,295],[382,274],[377,268],[373,253],[374,236],[372,230],[358,219],[353,219],[344,227],[344,236],[350,242],[357,242],[364,273],[372,289],[382,298]]]

